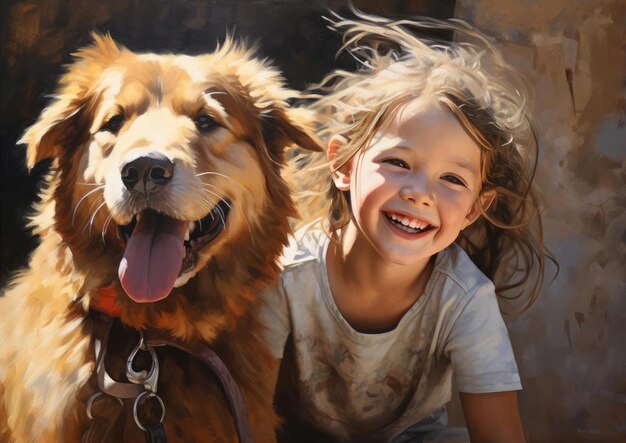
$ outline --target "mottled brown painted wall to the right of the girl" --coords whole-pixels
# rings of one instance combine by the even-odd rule
[[[458,0],[455,15],[497,38],[535,89],[561,271],[508,322],[529,439],[625,442],[626,2]]]

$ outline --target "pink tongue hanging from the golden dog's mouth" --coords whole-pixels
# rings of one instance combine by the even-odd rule
[[[164,299],[174,287],[185,258],[187,222],[144,212],[128,239],[118,275],[138,303]]]

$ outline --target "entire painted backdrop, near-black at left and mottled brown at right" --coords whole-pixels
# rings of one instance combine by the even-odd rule
[[[324,7],[345,4],[3,0],[0,283],[35,244],[20,227],[41,170],[26,176],[15,141],[89,31],[111,31],[135,50],[198,53],[236,25],[237,35],[260,39],[261,54],[302,87],[335,63],[338,41],[319,17]],[[626,2],[354,4],[394,16],[454,14],[495,37],[533,84],[546,240],[561,272],[526,314],[508,321],[524,384],[523,421],[531,442],[625,442]],[[451,418],[462,421],[458,400]]]

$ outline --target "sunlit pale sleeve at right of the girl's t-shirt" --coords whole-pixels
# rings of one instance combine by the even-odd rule
[[[459,391],[485,393],[522,389],[509,335],[492,283],[484,284],[461,308],[445,354]]]

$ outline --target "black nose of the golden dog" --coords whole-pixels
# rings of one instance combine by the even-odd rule
[[[122,166],[122,182],[129,191],[152,193],[168,184],[174,175],[174,163],[162,154],[148,154]]]

